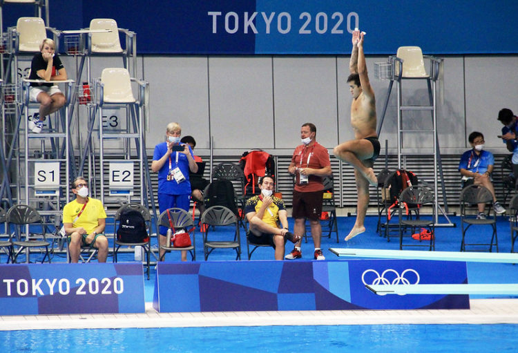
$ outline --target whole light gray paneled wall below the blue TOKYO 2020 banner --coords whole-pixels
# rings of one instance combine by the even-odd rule
[[[387,57],[367,57],[378,122],[387,97],[388,81],[374,77],[374,63]],[[73,58],[64,57],[75,77]],[[93,59],[92,76],[103,67],[121,66],[118,58]],[[437,85],[437,126],[441,153],[466,149],[474,130],[486,136],[494,153],[506,153],[497,138],[499,109],[518,113],[517,55],[446,56]],[[86,72],[86,70],[85,70]],[[208,154],[214,137],[215,155],[238,155],[252,148],[289,155],[299,143],[300,126],[313,122],[317,140],[329,149],[352,139],[351,96],[345,79],[348,56],[146,56],[137,60],[138,78],[150,85],[147,147],[164,139],[167,123],[179,122],[183,135],[193,135],[198,153]],[[396,153],[396,84],[392,88],[380,140]],[[428,104],[425,81],[403,82],[403,104]],[[403,114],[403,128],[432,128],[430,113]],[[408,133],[403,145],[412,153],[428,153],[430,133]]]

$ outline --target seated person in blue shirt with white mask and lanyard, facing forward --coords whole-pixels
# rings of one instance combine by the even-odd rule
[[[473,131],[468,136],[468,141],[472,149],[462,154],[459,163],[459,171],[462,175],[462,187],[468,187],[471,184],[482,185],[486,187],[493,195],[493,206],[496,213],[504,213],[506,209],[502,207],[495,196],[495,187],[491,180],[491,173],[495,166],[495,157],[491,152],[485,151],[484,136],[478,131]],[[479,204],[479,214],[477,219],[486,218],[484,213],[485,204]]]

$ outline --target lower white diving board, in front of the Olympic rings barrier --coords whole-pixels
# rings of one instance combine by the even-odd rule
[[[516,283],[447,285],[365,285],[378,296],[385,294],[503,294],[518,295]]]

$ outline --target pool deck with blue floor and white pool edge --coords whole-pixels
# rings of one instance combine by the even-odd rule
[[[457,221],[457,218],[454,218]],[[366,233],[349,242],[343,237],[354,222],[352,217],[339,217],[340,242],[336,238],[323,238],[323,251],[328,260],[339,260],[329,248],[399,249],[394,238],[387,242],[374,231],[376,218],[367,217]],[[290,219],[290,224],[292,220]],[[499,220],[499,250],[509,254],[509,223]],[[460,227],[436,229],[437,251],[459,251]],[[484,232],[481,232],[483,236]],[[486,235],[487,236],[487,235]],[[198,245],[197,258],[203,260],[202,246]],[[242,240],[242,261],[247,261],[246,240]],[[303,256],[312,255],[311,238],[303,242]],[[287,251],[291,247],[287,245]],[[487,251],[487,250],[486,250]],[[179,254],[167,258],[178,260]],[[273,249],[258,249],[255,260],[271,260]],[[311,256],[312,257],[312,256]],[[235,253],[228,249],[217,249],[210,260],[233,260]],[[343,258],[342,258],[343,259]],[[57,258],[55,259],[58,260]],[[52,260],[53,262],[55,260]],[[111,258],[108,258],[111,261]],[[518,265],[468,263],[470,283],[518,283]],[[152,307],[155,271],[151,280],[144,280],[146,312],[142,314],[81,314],[81,315],[37,315],[0,316],[0,331],[6,330],[50,330],[82,328],[126,328],[126,327],[211,327],[211,326],[266,326],[266,325],[384,325],[384,324],[518,324],[518,298],[508,296],[470,296],[470,309],[417,309],[417,310],[330,310],[330,311],[284,311],[284,312],[185,312],[158,313]]]

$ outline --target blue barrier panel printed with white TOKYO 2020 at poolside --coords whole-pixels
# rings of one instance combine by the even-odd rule
[[[0,265],[0,315],[145,312],[138,263]]]

